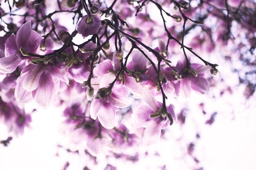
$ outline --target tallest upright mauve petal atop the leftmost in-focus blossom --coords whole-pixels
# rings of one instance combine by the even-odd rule
[[[20,29],[17,31],[16,34],[16,42],[18,49],[20,49],[20,47],[23,47],[25,50],[28,50],[28,42],[31,30],[31,21],[28,21],[22,26],[20,26]]]

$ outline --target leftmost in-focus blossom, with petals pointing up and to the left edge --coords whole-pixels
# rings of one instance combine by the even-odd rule
[[[24,57],[20,48],[30,53],[36,53],[42,37],[36,31],[31,29],[31,22],[23,24],[17,31],[17,34],[12,34],[5,43],[6,57],[0,58],[0,73],[12,73],[17,66],[25,63],[29,57]]]

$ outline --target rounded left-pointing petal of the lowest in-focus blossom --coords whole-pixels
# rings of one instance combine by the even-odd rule
[[[154,113],[154,111],[148,105],[139,104],[135,108],[135,110],[133,110],[133,113],[131,115],[132,124],[136,128],[140,128],[140,127],[146,128],[150,124],[150,122],[153,121],[153,119],[149,117],[149,115],[151,115],[152,113]]]

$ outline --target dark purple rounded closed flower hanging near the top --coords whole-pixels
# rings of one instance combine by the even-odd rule
[[[82,20],[77,25],[77,31],[82,34],[83,38],[88,35],[96,34],[99,31],[99,26],[101,25],[101,20],[98,17],[91,15],[83,16]]]

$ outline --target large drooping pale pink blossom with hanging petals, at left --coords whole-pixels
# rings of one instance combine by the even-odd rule
[[[21,103],[34,99],[41,106],[47,107],[58,93],[60,80],[68,84],[67,77],[61,75],[58,67],[43,63],[29,64],[17,79],[15,97]]]

